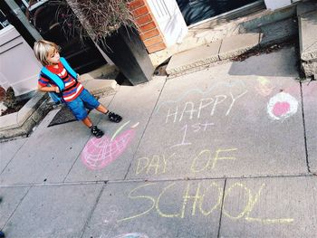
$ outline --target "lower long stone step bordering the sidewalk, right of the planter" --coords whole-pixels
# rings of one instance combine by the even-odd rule
[[[234,58],[257,47],[267,47],[298,37],[298,24],[293,18],[272,24],[257,25],[254,33],[239,33],[172,55],[166,69],[169,77],[207,67],[213,62]]]

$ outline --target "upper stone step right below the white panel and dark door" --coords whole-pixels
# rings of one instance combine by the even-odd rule
[[[257,12],[255,9],[255,11],[251,12],[252,14],[246,14],[235,19],[224,14],[213,17],[203,23],[191,25],[188,27],[187,36],[183,39],[182,43],[177,43],[165,50],[151,53],[149,57],[153,65],[158,66],[178,52],[188,51],[207,43],[220,41],[232,35],[259,32],[263,32],[265,35],[274,24],[292,19],[296,15],[296,5],[290,5],[275,11],[261,10]],[[295,28],[297,28],[297,25]],[[284,33],[287,33],[288,29],[293,31],[293,27],[288,27],[287,25],[283,26],[283,29],[281,32]],[[274,32],[272,33],[274,34]],[[271,39],[274,38],[276,37],[273,35]],[[287,35],[285,35],[285,38],[287,38]],[[267,38],[266,42],[270,43],[271,39]]]

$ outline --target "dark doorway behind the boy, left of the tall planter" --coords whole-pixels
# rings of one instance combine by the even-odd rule
[[[72,26],[71,9],[64,0],[14,0],[44,40],[57,43],[61,54],[82,74],[107,62],[89,37]]]

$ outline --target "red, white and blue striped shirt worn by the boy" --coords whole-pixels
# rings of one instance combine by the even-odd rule
[[[76,80],[73,79],[70,74],[68,74],[68,72],[63,67],[62,62],[58,63],[58,68],[54,68],[53,65],[48,65],[45,67],[49,71],[52,71],[53,73],[57,74],[57,76],[59,76],[62,79],[62,81],[64,82],[65,89],[62,91],[62,99],[63,100],[72,101],[72,100],[75,100],[81,94],[81,92],[83,90],[82,83],[80,83],[78,81],[77,85],[74,86],[76,83]],[[53,81],[51,81],[47,77],[43,76],[43,74],[41,74],[41,77],[40,77],[38,83],[42,87],[47,87],[49,85],[56,86],[56,84]]]

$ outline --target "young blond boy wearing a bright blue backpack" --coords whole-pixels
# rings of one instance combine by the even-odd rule
[[[110,121],[120,122],[122,119],[120,115],[106,109],[88,90],[83,88],[81,82],[77,81],[79,74],[72,76],[72,73],[70,73],[72,68],[70,69],[70,66],[67,67],[68,63],[63,58],[60,58],[59,47],[55,43],[40,40],[34,43],[34,53],[37,60],[49,71],[48,73],[43,73],[43,71],[46,71],[44,68],[41,71],[40,79],[38,80],[38,90],[58,94],[67,107],[72,110],[75,118],[82,120],[83,124],[91,129],[91,134],[94,137],[101,138],[103,132],[97,126],[93,126],[91,119],[88,117],[87,109],[97,109],[108,115]],[[62,86],[61,83],[53,81],[56,78],[51,72],[59,77],[57,80],[62,82]],[[72,72],[73,74],[75,73],[74,71]]]

